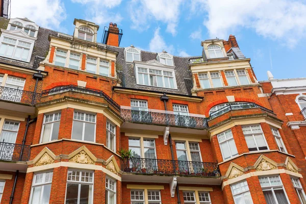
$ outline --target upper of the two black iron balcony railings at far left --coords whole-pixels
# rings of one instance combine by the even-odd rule
[[[41,94],[8,87],[0,87],[0,100],[35,105],[40,101]]]

